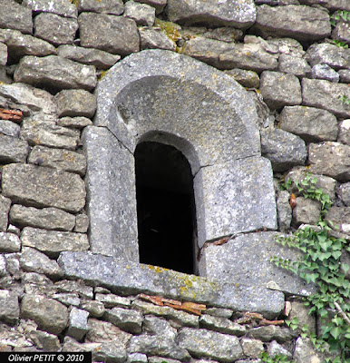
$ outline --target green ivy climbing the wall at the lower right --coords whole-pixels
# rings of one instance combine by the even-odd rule
[[[325,221],[325,214],[332,202],[321,188],[316,188],[316,182],[317,179],[308,173],[300,183],[288,180],[282,184],[287,190],[295,185],[305,198],[320,201],[321,215],[317,226],[299,229],[292,236],[277,239],[289,248],[301,250],[301,260],[275,257],[272,261],[277,266],[293,271],[307,283],[316,284],[318,288],[315,294],[304,299],[309,313],[316,314],[320,319],[320,335],[317,337],[304,326],[301,336],[310,338],[321,351],[329,348],[330,351],[339,352],[337,358],[328,358],[326,362],[350,363],[350,281],[345,279],[350,266],[340,260],[344,251],[350,252],[350,245],[346,240],[330,235],[331,228]],[[297,329],[298,321],[292,319],[287,325]]]

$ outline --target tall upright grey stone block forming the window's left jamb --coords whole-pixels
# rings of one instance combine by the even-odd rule
[[[133,157],[111,132],[101,127],[87,127],[83,142],[88,162],[86,183],[92,252],[139,260]],[[99,145],[106,152],[101,152]],[[111,172],[115,168],[121,172]],[[112,201],[109,206],[106,198]],[[105,243],[106,240],[114,242]]]

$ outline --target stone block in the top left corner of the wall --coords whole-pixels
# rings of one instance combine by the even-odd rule
[[[0,5],[0,28],[16,29],[24,34],[32,34],[32,11],[15,0],[3,0]]]

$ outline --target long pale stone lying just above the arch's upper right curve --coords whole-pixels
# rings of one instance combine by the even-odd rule
[[[254,72],[277,69],[277,55],[260,43],[235,44],[197,36],[186,42],[182,53],[219,69],[241,68]]]

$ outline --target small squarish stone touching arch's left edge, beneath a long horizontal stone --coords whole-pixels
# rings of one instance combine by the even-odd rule
[[[63,90],[56,93],[57,113],[63,116],[84,116],[92,118],[96,111],[96,97],[84,90]]]

